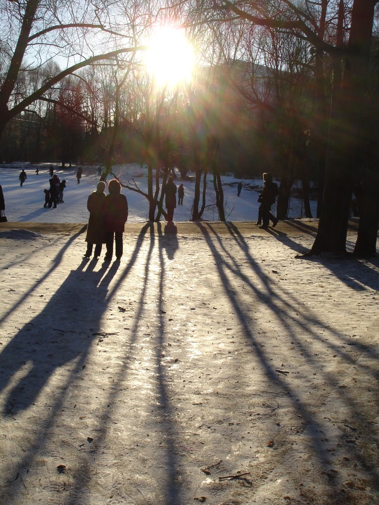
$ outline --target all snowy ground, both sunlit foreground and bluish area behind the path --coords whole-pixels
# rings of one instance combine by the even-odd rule
[[[0,503],[379,502],[377,258],[295,258],[316,220],[184,222],[185,183],[171,228],[123,190],[121,262],[86,260],[96,168],[51,210],[47,172],[0,170]]]

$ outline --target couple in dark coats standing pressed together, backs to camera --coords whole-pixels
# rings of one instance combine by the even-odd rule
[[[106,184],[98,182],[96,191],[93,191],[87,200],[89,212],[87,235],[87,250],[85,257],[92,255],[95,244],[94,257],[98,258],[105,243],[107,254],[105,261],[111,261],[113,256],[113,242],[116,245],[116,259],[120,260],[123,252],[122,234],[125,231],[125,223],[128,219],[128,202],[126,196],[121,194],[121,184],[117,179],[108,183],[109,194],[105,194]]]

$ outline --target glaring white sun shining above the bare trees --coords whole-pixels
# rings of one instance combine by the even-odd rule
[[[156,27],[148,45],[146,66],[157,86],[175,87],[191,79],[194,48],[182,29]]]

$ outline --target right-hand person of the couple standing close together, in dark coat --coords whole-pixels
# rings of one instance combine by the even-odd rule
[[[105,261],[111,261],[113,256],[113,240],[116,243],[116,258],[120,260],[123,252],[122,234],[128,219],[128,202],[121,194],[121,184],[117,179],[108,183],[109,194],[104,200],[104,226],[107,254]]]

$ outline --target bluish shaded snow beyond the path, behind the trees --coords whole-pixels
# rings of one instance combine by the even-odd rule
[[[38,222],[38,223],[85,223],[88,220],[86,208],[88,194],[96,189],[99,180],[98,167],[83,166],[83,177],[80,184],[77,183],[75,168],[62,170],[55,166],[55,173],[66,182],[64,191],[64,204],[57,209],[44,209],[43,189],[49,189],[49,164],[40,167],[39,174],[35,173],[35,167],[30,164],[14,163],[0,166],[0,184],[6,200],[6,215],[8,221]],[[43,167],[43,168],[41,168]],[[19,174],[24,168],[27,179],[20,187]],[[137,164],[121,165],[114,167],[114,173],[120,180],[126,183],[134,178],[140,189],[147,191],[146,169],[141,169]],[[109,179],[108,179],[109,180]],[[256,221],[258,217],[258,192],[252,189],[261,187],[261,180],[242,180],[243,190],[241,196],[237,196],[237,184],[240,179],[234,177],[222,177],[224,197],[226,202],[226,215],[228,221]],[[191,219],[191,209],[194,199],[195,183],[192,181],[176,181],[184,185],[183,205],[175,210],[174,220],[176,222],[189,221]],[[208,176],[207,208],[204,219],[217,221],[218,215],[214,203],[214,190],[212,178]],[[129,205],[128,221],[132,223],[145,222],[148,220],[148,202],[141,196],[128,189],[123,189]],[[312,201],[312,215],[315,216],[316,202]],[[294,198],[291,201],[290,217],[302,217],[301,201]]]

